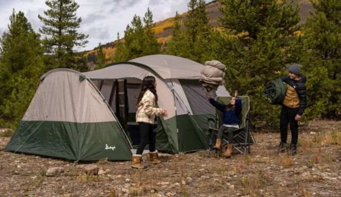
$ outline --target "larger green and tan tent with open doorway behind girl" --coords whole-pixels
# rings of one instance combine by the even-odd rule
[[[181,57],[149,55],[83,74],[94,82],[126,128],[134,124],[143,78],[154,76],[158,105],[168,111],[168,117],[157,120],[156,148],[178,153],[208,148],[207,119],[214,118],[215,110],[199,83],[202,68]],[[229,96],[223,86],[217,94]]]

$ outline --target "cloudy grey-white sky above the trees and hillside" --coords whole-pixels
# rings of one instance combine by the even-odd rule
[[[82,18],[80,32],[89,34],[86,49],[93,49],[98,43],[105,44],[116,39],[117,32],[124,29],[133,15],[143,17],[147,8],[152,10],[154,21],[159,21],[175,12],[187,11],[189,0],[76,0],[80,5],[77,15]],[[207,2],[210,0],[207,0]],[[0,34],[7,30],[9,16],[13,9],[22,11],[38,31],[41,26],[38,14],[47,9],[45,0],[0,0]]]

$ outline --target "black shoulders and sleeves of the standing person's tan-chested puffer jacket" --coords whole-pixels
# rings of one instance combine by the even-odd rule
[[[290,79],[289,76],[282,77],[282,81],[286,82],[293,88],[295,88],[298,97],[300,99],[300,107],[298,110],[299,115],[303,115],[305,108],[307,107],[307,91],[305,88],[306,77],[301,75],[301,79],[298,81]]]

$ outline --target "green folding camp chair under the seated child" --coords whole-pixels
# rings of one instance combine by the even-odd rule
[[[239,98],[242,99],[243,108],[239,117],[239,129],[235,129],[233,131],[233,150],[237,150],[241,154],[245,155],[246,153],[250,153],[250,145],[254,144],[255,141],[252,133],[249,130],[248,112],[250,110],[250,99],[248,96],[240,96]],[[228,104],[230,99],[231,97],[218,97],[216,100],[220,103]],[[223,124],[223,113],[219,110],[216,110],[215,120],[209,118],[208,121],[210,122],[209,131],[211,132],[208,149],[208,156],[210,156],[211,153],[215,152],[213,147],[215,145],[215,139],[218,136],[219,128]],[[225,149],[227,148],[227,144],[227,133],[224,132],[221,147]]]

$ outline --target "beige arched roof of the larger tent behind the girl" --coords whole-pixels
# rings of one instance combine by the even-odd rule
[[[203,65],[182,57],[148,55],[83,74],[90,79],[143,79],[152,73],[162,79],[199,80],[202,68]]]

